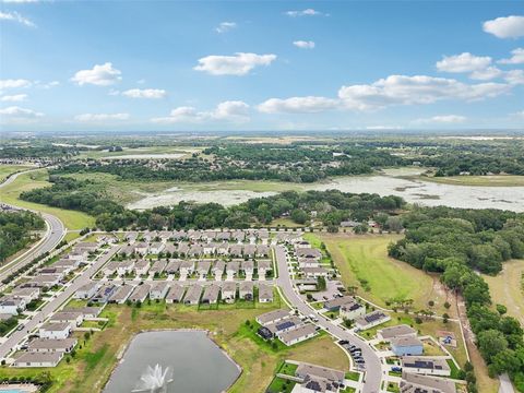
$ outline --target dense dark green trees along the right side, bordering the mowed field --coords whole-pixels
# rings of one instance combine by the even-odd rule
[[[491,308],[489,286],[478,272],[497,274],[502,262],[524,258],[524,215],[497,210],[414,209],[402,216],[404,239],[390,245],[391,257],[441,273],[461,294],[490,376],[508,372],[524,391],[524,342],[520,322]],[[471,391],[476,391],[472,384]]]

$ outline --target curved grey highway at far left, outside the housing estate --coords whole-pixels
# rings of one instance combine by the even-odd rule
[[[32,169],[32,170],[35,170],[35,169]],[[5,187],[12,183],[20,175],[26,174],[32,170],[17,172],[10,176],[4,182],[0,183],[0,190],[2,187]],[[0,202],[2,202],[1,194],[0,194]],[[17,207],[17,206],[13,206],[13,207]],[[36,213],[40,213],[40,212],[36,212]],[[0,282],[4,279],[7,276],[9,276],[11,273],[19,270],[20,267],[23,267],[26,264],[31,263],[36,257],[53,250],[55,247],[63,239],[63,236],[66,235],[66,227],[63,226],[62,222],[51,214],[40,213],[40,215],[47,224],[46,234],[40,239],[40,241],[38,241],[31,250],[20,255],[19,258],[14,259],[9,264],[2,266],[2,271],[0,273]]]

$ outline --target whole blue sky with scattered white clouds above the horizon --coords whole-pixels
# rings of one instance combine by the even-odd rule
[[[4,131],[524,123],[521,1],[3,0],[0,38]]]

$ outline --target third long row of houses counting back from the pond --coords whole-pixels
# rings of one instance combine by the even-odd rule
[[[147,255],[168,254],[189,258],[202,255],[222,255],[229,258],[267,258],[271,249],[267,245],[231,245],[229,242],[163,242],[163,241],[139,241],[129,243],[120,250],[121,254]]]

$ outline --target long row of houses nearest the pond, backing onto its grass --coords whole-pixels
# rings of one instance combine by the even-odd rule
[[[273,286],[260,284],[257,288],[260,302],[272,302],[274,300]],[[224,282],[210,285],[191,284],[189,286],[165,281],[136,286],[129,283],[117,286],[110,283],[100,285],[97,282],[91,282],[81,287],[75,297],[96,302],[115,303],[123,303],[128,300],[143,302],[147,298],[152,300],[166,299],[168,303],[198,306],[200,303],[215,305],[219,299],[226,302],[235,302],[237,298],[254,300],[255,286],[252,282],[241,282],[238,285],[235,282]]]

